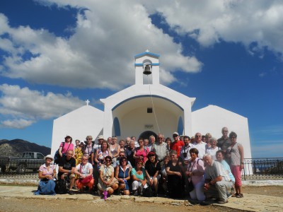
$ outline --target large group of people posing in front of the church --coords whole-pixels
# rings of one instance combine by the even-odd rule
[[[104,139],[100,135],[97,143],[87,136],[85,143],[76,140],[75,146],[71,136],[66,136],[58,150],[58,180],[68,178],[69,194],[74,194],[74,189],[98,192],[104,199],[115,192],[171,198],[189,194],[192,201],[214,199],[224,204],[231,195],[243,197],[244,155],[235,132],[229,134],[224,127],[222,134],[220,139],[209,133],[190,138],[174,132],[173,141],[158,134],[157,138],[152,135],[137,141],[132,136],[119,143],[116,136]],[[55,194],[52,160],[52,155],[47,155],[40,166],[35,194]]]

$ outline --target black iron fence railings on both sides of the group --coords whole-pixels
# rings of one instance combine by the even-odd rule
[[[242,179],[283,179],[283,158],[245,158]],[[42,161],[1,165],[0,178],[37,178]]]

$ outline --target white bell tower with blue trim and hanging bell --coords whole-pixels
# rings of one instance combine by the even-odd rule
[[[136,71],[136,85],[144,84],[144,74],[151,75],[152,84],[159,84],[159,55],[149,52],[134,56],[134,67]]]

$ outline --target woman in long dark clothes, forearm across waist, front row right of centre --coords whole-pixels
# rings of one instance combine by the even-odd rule
[[[168,192],[171,198],[180,198],[183,196],[183,179],[182,179],[182,167],[179,165],[177,151],[170,151],[171,160],[166,167],[166,173],[168,175]]]

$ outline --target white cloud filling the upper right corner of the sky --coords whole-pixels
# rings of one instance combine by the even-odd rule
[[[241,42],[250,51],[267,47],[283,53],[283,3],[278,0],[144,1],[151,13],[161,13],[178,33],[194,37],[204,47],[219,40]],[[250,49],[254,43],[257,48]]]

